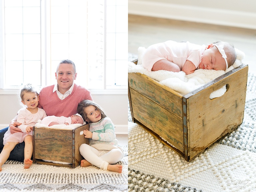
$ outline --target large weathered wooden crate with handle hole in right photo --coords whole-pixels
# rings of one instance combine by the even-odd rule
[[[137,64],[137,61],[134,61]],[[193,160],[242,124],[248,65],[241,65],[186,95],[141,73],[128,73],[133,122],[185,158]],[[226,85],[218,98],[210,94]]]

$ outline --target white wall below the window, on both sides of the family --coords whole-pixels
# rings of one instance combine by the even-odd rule
[[[113,121],[116,134],[128,134],[128,95],[92,94],[92,98]],[[9,126],[21,108],[19,103],[20,98],[17,95],[0,95],[0,129]]]

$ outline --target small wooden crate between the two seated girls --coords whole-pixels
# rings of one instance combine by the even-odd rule
[[[89,125],[82,125],[73,130],[33,127],[33,162],[62,167],[76,167],[84,159],[79,152],[81,144],[89,144],[89,139],[80,135],[80,131],[89,130]],[[60,161],[71,164],[46,162]]]

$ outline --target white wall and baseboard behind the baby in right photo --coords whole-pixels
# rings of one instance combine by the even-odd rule
[[[256,29],[253,0],[129,0],[128,14]]]

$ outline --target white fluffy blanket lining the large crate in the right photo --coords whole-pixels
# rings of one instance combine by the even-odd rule
[[[237,59],[235,63],[230,66],[226,71],[219,70],[207,70],[198,69],[194,73],[186,75],[183,71],[171,72],[171,71],[147,71],[142,67],[142,54],[146,49],[144,47],[139,47],[138,49],[138,63],[135,65],[133,62],[128,62],[128,73],[142,73],[151,77],[152,79],[162,83],[163,85],[170,87],[171,89],[177,91],[182,95],[186,95],[197,88],[205,85],[206,83],[214,80],[215,78],[225,74],[228,71],[240,66],[242,64],[242,59],[244,58],[244,53],[236,49]],[[223,86],[219,90],[214,91],[210,95],[210,99],[215,97],[220,97],[226,92],[226,86]]]

